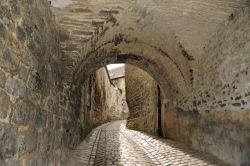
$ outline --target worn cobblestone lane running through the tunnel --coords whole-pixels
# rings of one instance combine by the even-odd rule
[[[126,121],[104,124],[72,150],[65,166],[223,166],[183,144],[129,130]]]

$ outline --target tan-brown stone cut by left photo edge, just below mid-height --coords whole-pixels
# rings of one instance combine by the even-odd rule
[[[0,118],[7,117],[7,113],[10,107],[10,97],[0,89]]]

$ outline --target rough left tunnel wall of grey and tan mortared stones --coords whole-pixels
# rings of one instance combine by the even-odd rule
[[[47,1],[0,1],[1,165],[56,165],[78,140],[55,27]]]

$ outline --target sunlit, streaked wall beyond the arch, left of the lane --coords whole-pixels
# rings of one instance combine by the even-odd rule
[[[80,119],[84,135],[94,127],[119,119],[119,91],[115,89],[105,68],[97,70],[81,88]]]

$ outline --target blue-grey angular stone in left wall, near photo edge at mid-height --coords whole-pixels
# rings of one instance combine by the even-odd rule
[[[12,95],[15,96],[21,96],[21,97],[25,97],[26,96],[26,86],[24,83],[22,83],[21,81],[8,77],[7,81],[5,83],[5,89],[11,93]]]

